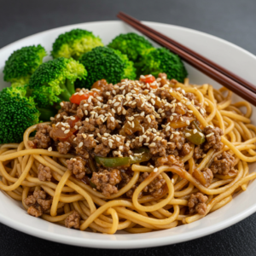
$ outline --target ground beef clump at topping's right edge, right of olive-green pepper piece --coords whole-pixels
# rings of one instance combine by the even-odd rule
[[[221,143],[221,136],[224,135],[224,132],[220,128],[212,128],[212,126],[207,126],[204,129],[204,134],[206,135],[207,139],[207,143],[204,145],[205,150],[213,148],[218,151],[223,147],[223,143]]]

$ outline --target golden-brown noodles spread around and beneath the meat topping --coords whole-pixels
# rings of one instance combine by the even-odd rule
[[[171,229],[179,224],[192,223],[224,207],[232,201],[234,193],[246,190],[248,183],[256,178],[256,173],[250,173],[248,166],[248,163],[256,161],[256,126],[250,120],[252,107],[248,102],[232,104],[231,91],[224,88],[215,90],[210,84],[192,85],[189,79],[185,79],[184,84],[173,85],[173,89],[177,87],[180,89],[170,90],[175,102],[183,101],[180,92],[183,90],[185,93],[193,93],[198,104],[201,104],[198,106],[206,109],[204,113],[195,106],[195,102],[183,102],[201,129],[214,125],[224,131],[221,137],[224,144],[222,149],[209,148],[198,160],[195,158],[198,147],[191,143],[189,153],[180,158],[184,167],[168,165],[169,162],[157,168],[149,164],[133,164],[127,183],[106,196],[90,183],[73,176],[66,160],[76,155],[31,148],[30,135],[37,129],[37,125],[33,125],[25,131],[22,143],[1,146],[0,189],[14,200],[21,201],[26,211],[31,207],[26,201],[32,200],[32,193],[37,194],[44,189],[49,198],[43,199],[50,202],[50,207],[41,218],[63,225],[68,218],[73,219],[76,212],[81,218],[76,223],[80,230],[106,234],[114,234],[117,230],[137,234]],[[246,109],[245,113],[241,108],[242,111]],[[214,173],[211,183],[205,185],[200,175],[222,154],[234,155],[236,168],[229,173]],[[51,180],[40,180],[38,168],[42,165],[50,169]],[[146,175],[143,181],[140,179],[142,175]],[[149,188],[157,177],[162,177],[162,183],[165,183],[161,194],[143,194],[145,188]],[[125,195],[131,190],[133,194],[128,198]],[[188,211],[191,204],[189,200],[195,193],[207,196],[203,214]]]

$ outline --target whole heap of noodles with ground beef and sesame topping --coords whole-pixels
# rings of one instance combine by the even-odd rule
[[[252,108],[231,96],[165,74],[98,81],[61,102],[52,122],[28,128],[23,142],[2,145],[0,189],[32,216],[80,230],[194,222],[256,177]]]

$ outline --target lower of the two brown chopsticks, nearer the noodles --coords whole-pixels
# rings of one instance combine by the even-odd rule
[[[211,65],[208,65],[208,63],[206,63],[204,61],[201,61],[201,59],[197,59],[195,57],[195,55],[190,55],[189,52],[177,47],[177,44],[174,45],[174,44],[170,43],[171,42],[171,41],[169,41],[170,38],[167,41],[165,39],[165,38],[167,38],[166,36],[163,35],[163,37],[160,37],[158,35],[159,32],[157,32],[157,34],[155,34],[153,29],[149,28],[148,26],[143,25],[141,22],[135,22],[134,20],[127,18],[126,15],[122,15],[122,13],[121,14],[119,13],[119,15],[117,15],[117,16],[120,20],[123,20],[127,24],[133,26],[139,32],[142,32],[144,35],[146,35],[148,38],[153,39],[156,43],[166,47],[167,49],[170,49],[172,52],[179,55],[183,59],[183,61],[188,62],[191,66],[197,68],[202,73],[205,73],[207,76],[209,76],[210,78],[217,81],[219,84],[224,85],[229,90],[234,91],[237,95],[241,96],[242,98],[246,99],[248,102],[250,102],[254,106],[256,106],[256,94],[255,94],[256,89],[253,84],[251,84],[251,85],[254,87],[254,90],[253,89],[252,89],[253,91],[248,90],[247,86],[245,86],[244,84],[238,83],[236,81],[236,79],[232,79],[232,78],[230,78],[229,75],[224,73],[225,69],[222,69],[223,72],[218,71],[218,69],[216,69],[215,67],[212,67]],[[204,59],[206,59],[206,58],[204,58]],[[218,66],[218,67],[220,67],[220,66]],[[243,79],[241,79],[241,80],[243,80]]]

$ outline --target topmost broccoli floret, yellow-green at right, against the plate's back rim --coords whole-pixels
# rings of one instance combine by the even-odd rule
[[[61,34],[53,44],[51,55],[54,59],[73,57],[78,60],[81,55],[97,46],[103,46],[101,38],[96,37],[92,32],[78,28]]]

